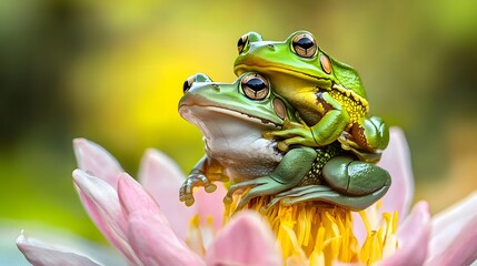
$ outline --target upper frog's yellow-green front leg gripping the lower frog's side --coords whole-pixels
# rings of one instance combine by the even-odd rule
[[[328,93],[320,93],[317,104],[320,106],[317,109],[320,109],[324,115],[315,125],[304,124],[302,127],[266,132],[265,136],[285,139],[278,146],[282,151],[294,144],[316,147],[336,141],[349,123],[348,112]]]

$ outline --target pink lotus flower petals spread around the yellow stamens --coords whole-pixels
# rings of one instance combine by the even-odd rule
[[[74,151],[79,170],[73,172],[73,181],[85,208],[129,264],[284,264],[271,229],[256,213],[239,213],[220,228],[225,195],[220,187],[212,194],[198,192],[192,207],[180,203],[178,190],[183,175],[163,154],[153,150],[146,153],[140,185],[99,145],[79,139],[74,141]],[[399,247],[385,248],[379,264],[467,265],[474,262],[477,258],[477,194],[433,219],[426,202],[417,203],[406,216],[414,183],[406,141],[397,129],[391,130],[391,142],[380,165],[391,173],[392,186],[380,207],[376,205],[366,211],[370,217],[368,226],[379,223],[384,212],[398,211],[400,221],[395,239]],[[197,223],[191,231],[190,221]],[[362,242],[365,227],[359,221],[355,218],[355,234]],[[213,234],[215,231],[218,233]],[[23,234],[17,245],[33,265],[100,265],[77,252],[51,247]]]

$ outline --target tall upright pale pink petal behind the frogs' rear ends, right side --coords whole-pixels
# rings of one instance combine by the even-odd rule
[[[414,176],[410,153],[403,130],[389,129],[390,141],[382,153],[379,166],[391,175],[392,184],[382,197],[381,213],[399,212],[399,222],[406,217],[414,197]],[[399,223],[400,224],[400,223]]]

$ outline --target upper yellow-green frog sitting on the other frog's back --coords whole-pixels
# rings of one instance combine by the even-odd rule
[[[274,92],[299,113],[300,127],[266,134],[285,137],[281,150],[292,144],[324,146],[338,140],[360,160],[379,161],[389,142],[387,124],[368,116],[366,91],[356,70],[329,57],[311,33],[298,31],[275,42],[250,32],[239,39],[238,51],[236,74],[264,74]]]

